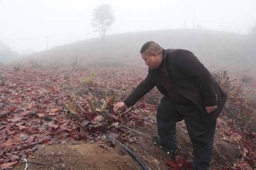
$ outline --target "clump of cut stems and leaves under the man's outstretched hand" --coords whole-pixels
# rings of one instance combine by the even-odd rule
[[[91,99],[88,98],[86,101],[91,110],[91,114],[88,112],[88,107],[87,111],[85,111],[85,109],[76,101],[74,96],[70,97],[69,104],[62,104],[62,106],[66,109],[67,114],[75,118],[83,128],[89,127],[89,129],[110,129],[111,127],[120,128],[119,125],[125,125],[128,122],[128,120],[126,119],[128,118],[128,114],[130,115],[132,113],[132,110],[139,108],[139,106],[131,106],[123,113],[114,114],[114,96],[111,98],[107,97],[106,100],[102,99],[101,101],[97,101],[96,97],[92,96]],[[71,108],[72,102],[75,105],[75,111]],[[80,118],[79,115],[75,113],[77,108],[79,108],[79,114],[82,115],[84,119]],[[139,117],[135,116],[133,116],[133,118],[136,118],[137,120],[139,119]]]

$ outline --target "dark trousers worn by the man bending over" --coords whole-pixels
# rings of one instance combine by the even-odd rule
[[[185,119],[190,136],[194,160],[194,170],[210,169],[216,121],[206,126],[203,113],[195,104],[182,105],[173,103],[169,97],[162,97],[156,113],[156,122],[160,144],[169,148],[177,148],[176,123]],[[181,146],[182,147],[182,146]]]

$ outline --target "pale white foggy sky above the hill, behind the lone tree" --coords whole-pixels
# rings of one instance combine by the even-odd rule
[[[46,50],[100,36],[91,27],[92,10],[103,3],[116,22],[107,34],[193,27],[194,0],[0,0],[0,41],[11,50]],[[195,25],[246,34],[256,22],[256,0],[196,0]],[[73,35],[72,35],[73,34]]]

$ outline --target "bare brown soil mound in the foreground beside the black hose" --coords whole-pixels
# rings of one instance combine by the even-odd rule
[[[103,152],[104,151],[104,152]],[[120,155],[116,149],[98,144],[74,142],[63,145],[43,146],[28,161],[27,170],[138,170],[140,166],[129,154]],[[24,170],[25,164],[15,167]]]

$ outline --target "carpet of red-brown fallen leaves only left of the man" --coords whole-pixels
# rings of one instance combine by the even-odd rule
[[[70,74],[69,70],[28,68],[16,72],[4,68],[1,74],[4,79],[0,82],[0,168],[16,165],[36,151],[40,144],[59,143],[61,140],[97,140],[97,132],[102,130],[121,142],[136,141],[135,137],[129,136],[130,129],[127,128],[143,124],[139,116],[141,112],[129,112],[122,117],[114,115],[113,98],[107,97],[106,91],[115,88],[117,93],[120,91],[118,97],[122,99],[122,94],[127,92],[124,89],[127,90],[129,84],[136,84],[138,78],[122,75],[126,78],[123,85],[120,80],[118,83],[107,81],[112,77],[104,72],[97,72],[97,75],[86,71]],[[82,81],[85,77],[89,82]],[[132,80],[129,82],[129,79]],[[79,94],[82,90],[85,92]],[[89,91],[95,92],[94,98]],[[70,99],[74,96],[71,94],[75,94],[76,101],[85,112],[72,103]],[[88,100],[94,103],[96,112],[104,109],[102,113],[108,117],[94,114]],[[75,111],[83,121],[70,117],[63,104]],[[106,124],[106,120],[112,120],[111,124]],[[107,126],[97,128],[97,125],[104,123]],[[112,144],[115,145],[115,142]]]

